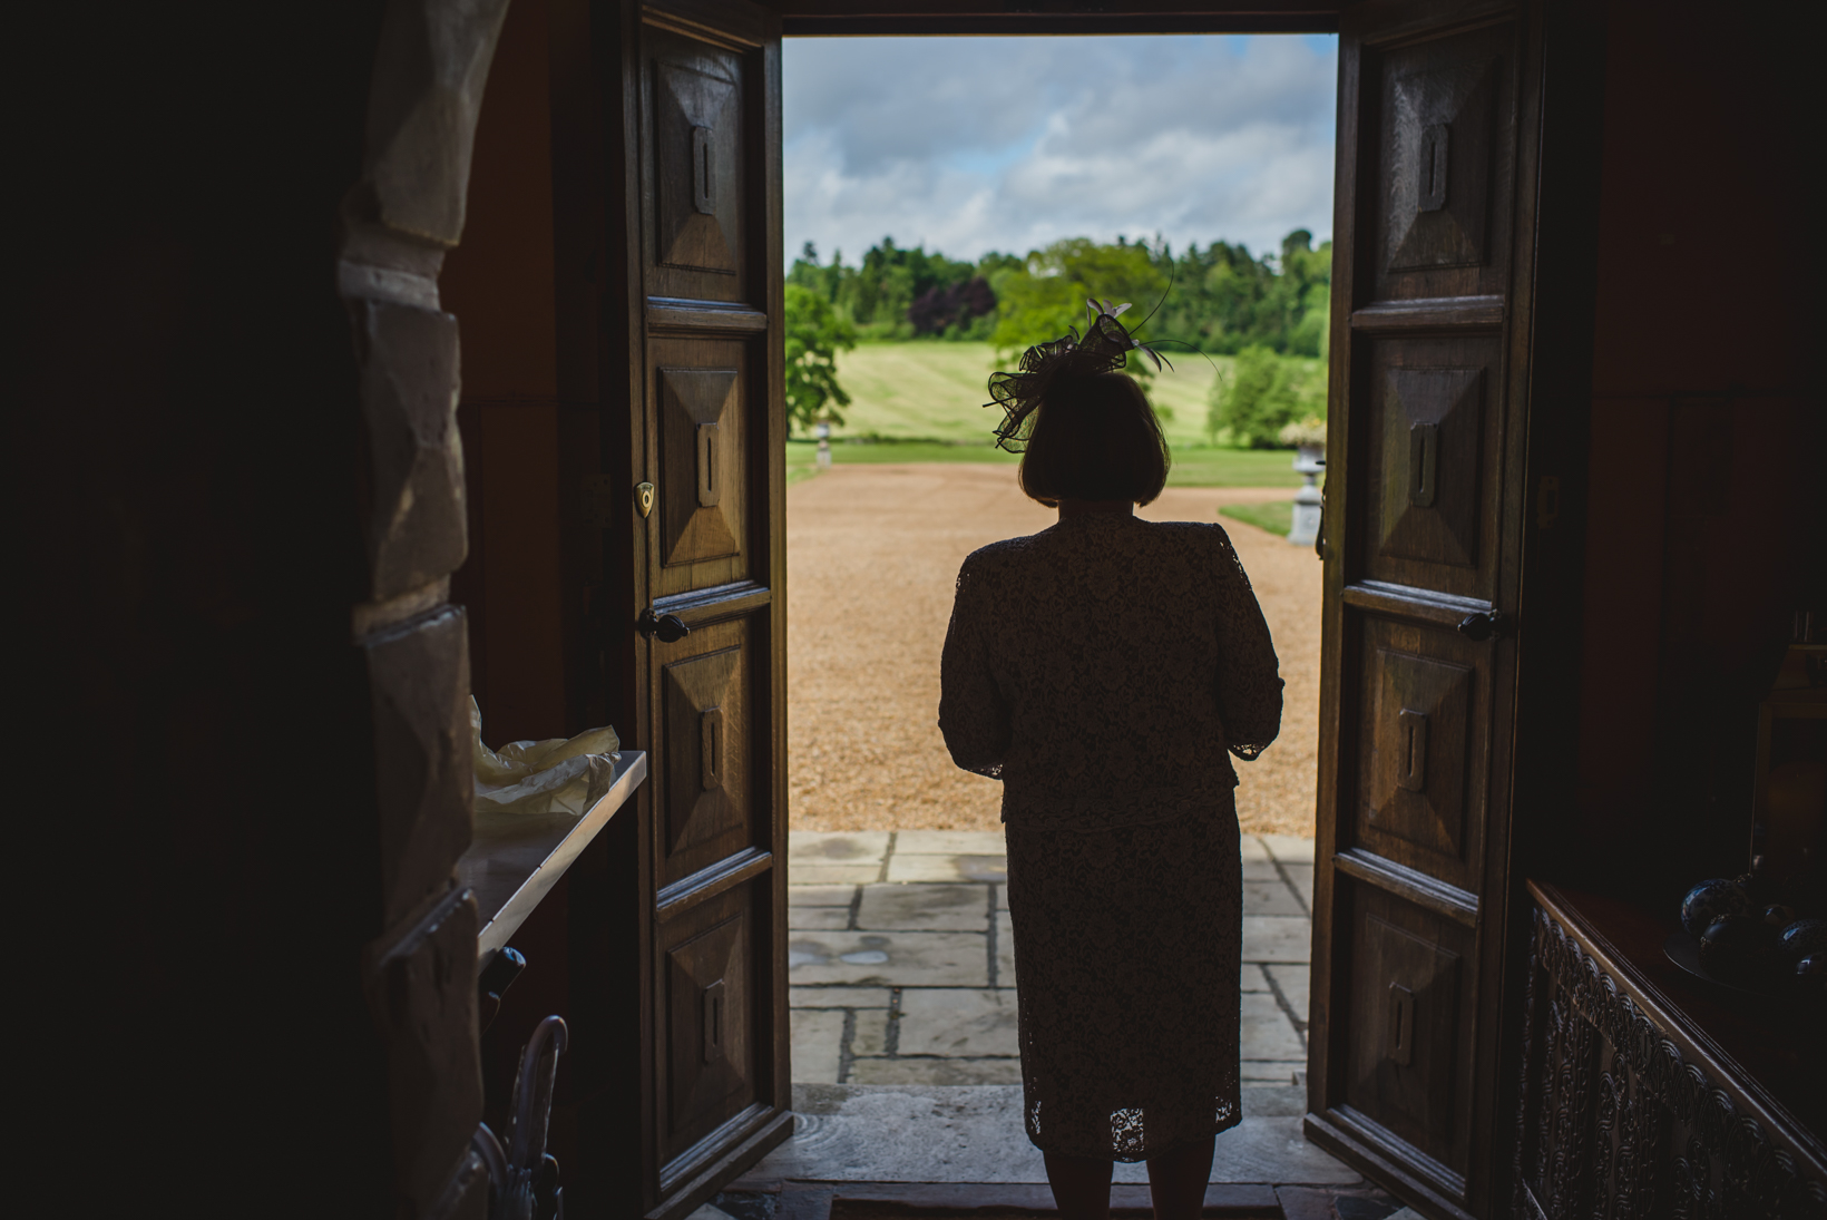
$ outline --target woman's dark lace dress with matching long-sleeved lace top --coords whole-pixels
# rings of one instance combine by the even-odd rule
[[[1237,1125],[1237,773],[1281,727],[1219,526],[1076,515],[972,553],[952,760],[1003,780],[1029,1138],[1147,1160]]]

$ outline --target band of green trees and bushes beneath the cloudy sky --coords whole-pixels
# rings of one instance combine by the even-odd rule
[[[1288,424],[1325,416],[1325,374],[1301,358],[1325,356],[1330,294],[1332,243],[1315,248],[1304,228],[1262,256],[1228,241],[1175,252],[1158,237],[1069,237],[968,263],[884,237],[853,267],[842,252],[820,261],[806,243],[787,272],[787,405],[800,422],[840,418],[850,396],[835,352],[857,340],[988,342],[1014,360],[1069,327],[1083,331],[1085,298],[1096,296],[1131,301],[1124,321],[1169,358],[1177,349],[1237,356],[1233,376],[1215,385],[1208,436],[1277,446]],[[1131,371],[1151,373],[1135,356]]]

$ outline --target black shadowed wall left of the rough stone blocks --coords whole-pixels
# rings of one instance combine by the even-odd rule
[[[380,20],[49,5],[13,29],[9,862],[38,919],[7,1057],[49,1209],[389,1207],[334,274]]]

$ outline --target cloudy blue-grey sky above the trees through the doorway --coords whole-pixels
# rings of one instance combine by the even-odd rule
[[[1337,40],[787,38],[786,250],[1332,234]]]

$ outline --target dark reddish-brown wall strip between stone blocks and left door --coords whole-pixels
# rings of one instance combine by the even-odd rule
[[[438,279],[462,325],[459,424],[470,674],[490,745],[566,736],[561,630],[552,79],[544,0],[513,0],[475,133],[462,245]]]

